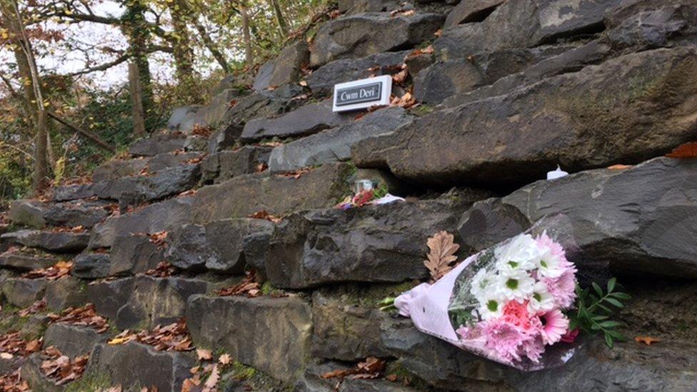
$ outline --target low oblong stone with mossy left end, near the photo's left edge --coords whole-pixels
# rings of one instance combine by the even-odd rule
[[[76,201],[46,203],[38,200],[18,200],[10,205],[8,218],[20,226],[83,226],[91,228],[106,216],[114,205],[106,201]]]

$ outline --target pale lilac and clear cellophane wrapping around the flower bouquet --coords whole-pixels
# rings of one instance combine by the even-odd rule
[[[487,289],[486,285],[481,282],[481,276],[477,277],[477,273],[483,269],[486,271],[497,271],[497,265],[501,266],[501,261],[498,259],[506,257],[506,251],[510,253],[511,247],[513,247],[513,253],[515,253],[516,246],[520,244],[528,244],[529,246],[531,241],[553,243],[551,246],[556,248],[557,253],[560,248],[563,249],[563,255],[568,263],[571,264],[571,271],[574,273],[571,281],[569,276],[565,276],[565,283],[566,285],[572,284],[575,286],[576,264],[573,261],[578,262],[583,255],[579,251],[578,246],[576,246],[576,241],[573,240],[571,225],[568,223],[568,220],[564,216],[558,215],[543,218],[525,233],[508,238],[506,241],[469,256],[436,283],[422,283],[410,291],[402,293],[401,296],[396,298],[395,306],[402,316],[411,317],[416,328],[423,333],[441,338],[478,356],[518,368],[521,371],[538,371],[562,366],[571,359],[573,353],[578,349],[579,341],[568,343],[569,340],[572,340],[568,338],[566,338],[566,342],[554,341],[554,338],[546,336],[548,339],[545,343],[542,343],[542,351],[540,349],[540,341],[536,342],[537,349],[531,355],[533,358],[531,359],[526,355],[526,350],[522,345],[513,355],[501,355],[501,349],[497,349],[498,346],[496,346],[498,338],[496,339],[497,342],[493,343],[492,339],[487,339],[486,334],[481,333],[481,326],[489,326],[491,324],[483,320],[481,315],[482,301],[478,300],[478,297],[473,294],[473,283],[479,283],[482,286],[481,288]],[[524,248],[524,246],[522,247]],[[537,276],[538,272],[536,270],[528,271],[528,274],[535,278],[536,281],[543,280],[543,277]],[[480,273],[480,275],[483,275],[483,273]],[[546,281],[549,280],[547,279]],[[474,291],[476,292],[476,290]],[[572,295],[572,298],[565,298],[561,305],[556,303],[555,308],[559,312],[567,311],[573,308],[574,300],[575,293]],[[526,301],[522,302],[528,304]],[[522,308],[522,306],[518,306],[518,308]],[[489,317],[496,318],[495,315],[491,316],[490,311],[488,313],[490,313]],[[541,313],[545,312],[541,311],[537,314]],[[530,314],[536,314],[534,309],[530,311]],[[544,320],[543,316],[538,318]],[[491,328],[488,331],[491,332]],[[567,330],[566,332],[568,333],[569,331]],[[573,336],[573,333],[571,335]],[[516,345],[515,336],[513,337],[513,343],[511,343],[510,339],[505,341],[506,338],[508,337],[504,333],[502,338],[504,343],[508,343],[509,346]],[[527,341],[526,345],[528,343],[531,342]]]

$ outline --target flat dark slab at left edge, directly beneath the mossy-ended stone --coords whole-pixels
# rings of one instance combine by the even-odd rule
[[[0,237],[30,248],[39,248],[53,253],[77,253],[86,248],[89,243],[89,233],[71,231],[28,229],[5,233]]]

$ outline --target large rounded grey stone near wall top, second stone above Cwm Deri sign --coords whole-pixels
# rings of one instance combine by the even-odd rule
[[[443,16],[422,13],[396,17],[388,12],[366,13],[334,19],[317,31],[310,48],[310,66],[409,49],[431,39],[441,24]]]

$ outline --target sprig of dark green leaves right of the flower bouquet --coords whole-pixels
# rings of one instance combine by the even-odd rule
[[[595,282],[585,289],[576,285],[576,310],[567,314],[571,321],[569,329],[578,328],[591,335],[602,335],[609,348],[613,348],[615,341],[626,341],[627,338],[616,330],[622,323],[610,318],[618,308],[624,307],[622,301],[631,296],[616,291],[616,285],[616,278],[608,281],[606,291]]]

